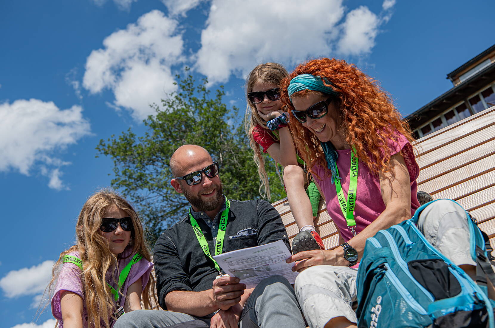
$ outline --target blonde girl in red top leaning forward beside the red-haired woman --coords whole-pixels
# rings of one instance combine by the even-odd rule
[[[313,222],[317,215],[320,194],[314,183],[308,184],[305,179],[304,161],[296,152],[291,132],[287,127],[288,114],[280,101],[279,85],[288,75],[286,69],[277,63],[260,64],[249,73],[246,81],[246,133],[261,178],[260,193],[264,187],[269,200],[270,186],[264,157],[259,147],[284,167],[283,179],[287,198],[299,228],[299,234],[292,243],[292,250],[297,253],[303,250],[324,249],[324,246]],[[304,192],[305,185],[308,185],[307,195]]]

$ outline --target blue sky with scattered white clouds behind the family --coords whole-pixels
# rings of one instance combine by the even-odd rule
[[[184,66],[245,108],[244,77],[278,61],[355,63],[403,115],[451,88],[446,74],[494,44],[494,1],[79,0],[0,2],[0,317],[35,323],[53,261],[85,199],[109,186],[100,139],[143,131],[148,103]]]

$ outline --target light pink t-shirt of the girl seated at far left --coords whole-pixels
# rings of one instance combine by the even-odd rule
[[[132,252],[132,246],[129,245],[126,247],[126,249],[120,254],[121,260],[119,260],[119,273],[122,271],[122,269],[125,268],[125,266],[132,260],[132,256],[130,255]],[[72,255],[79,257],[79,252],[72,252],[67,255]],[[123,258],[126,257],[126,258]],[[145,289],[146,284],[148,283],[149,280],[149,274],[151,273],[151,270],[153,268],[153,263],[147,261],[144,257],[139,260],[137,263],[133,264],[131,267],[131,271],[129,271],[129,275],[127,276],[127,279],[122,286],[122,292],[124,295],[127,294],[127,288],[132,285],[134,282],[136,282],[139,278],[141,278],[142,281],[142,290]],[[55,288],[55,293],[53,294],[53,297],[51,298],[51,313],[53,314],[53,317],[58,320],[58,328],[63,328],[63,321],[62,321],[62,311],[60,308],[60,299],[62,292],[64,290],[71,291],[73,293],[78,294],[83,298],[83,327],[87,328],[88,327],[88,312],[86,310],[86,303],[84,299],[84,288],[81,282],[81,269],[73,263],[64,263],[62,265],[62,269],[60,270],[60,275],[58,276],[57,280],[57,285]],[[117,278],[118,280],[118,278]],[[106,282],[110,283],[115,289],[117,289],[116,283],[113,281],[111,278],[111,273],[107,273],[106,275]],[[113,295],[113,294],[112,294]],[[119,300],[119,306],[124,306],[124,303],[126,301],[125,297],[120,297]],[[110,324],[110,327],[113,327],[114,322],[110,318],[108,318]],[[101,321],[101,324],[103,324],[103,321]],[[104,327],[104,326],[102,326]]]

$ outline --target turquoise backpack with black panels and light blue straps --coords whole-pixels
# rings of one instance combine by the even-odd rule
[[[495,281],[486,246],[491,250],[490,243],[475,220],[469,220],[475,283],[416,228],[430,203],[412,219],[366,240],[357,273],[358,327],[495,328],[485,279]]]

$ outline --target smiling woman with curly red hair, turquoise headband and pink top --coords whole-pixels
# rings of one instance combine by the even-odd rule
[[[297,66],[282,82],[282,101],[341,244],[288,260],[303,260],[294,271],[311,267],[297,278],[299,302],[310,327],[355,327],[356,270],[349,266],[356,265],[366,238],[411,218],[420,206],[414,139],[376,81],[344,60],[322,58]],[[329,281],[335,282],[325,291],[307,287]]]

